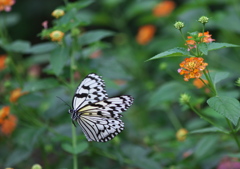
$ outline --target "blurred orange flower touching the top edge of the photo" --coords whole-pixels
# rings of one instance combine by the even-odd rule
[[[176,6],[176,4],[173,1],[160,2],[153,9],[153,15],[156,17],[167,16],[173,11],[175,6]]]

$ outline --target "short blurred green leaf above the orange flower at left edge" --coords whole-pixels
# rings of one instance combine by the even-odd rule
[[[12,52],[17,52],[17,53],[28,53],[30,49],[30,42],[28,41],[23,41],[23,40],[16,40],[13,43],[11,43],[7,49]]]

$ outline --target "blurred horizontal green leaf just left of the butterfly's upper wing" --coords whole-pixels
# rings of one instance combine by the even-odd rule
[[[36,81],[28,81],[27,83],[24,84],[23,91],[34,92],[38,90],[54,88],[56,86],[59,86],[57,80],[53,78],[45,78]]]

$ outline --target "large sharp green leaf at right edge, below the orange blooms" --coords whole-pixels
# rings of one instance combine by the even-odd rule
[[[229,119],[235,126],[240,117],[239,101],[232,97],[215,96],[207,100],[208,105],[216,112]]]

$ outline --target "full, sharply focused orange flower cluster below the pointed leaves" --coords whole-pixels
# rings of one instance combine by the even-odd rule
[[[180,69],[178,73],[184,75],[184,80],[188,81],[191,78],[200,78],[202,71],[208,65],[203,62],[204,59],[201,57],[190,57],[186,58],[182,63],[180,63]]]

